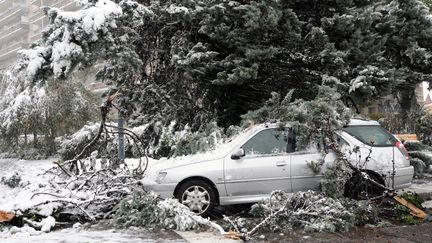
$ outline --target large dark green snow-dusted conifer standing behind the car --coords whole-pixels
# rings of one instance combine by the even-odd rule
[[[46,9],[42,40],[19,56],[23,86],[103,63],[98,77],[119,90],[129,124],[150,124],[147,138],[172,121],[238,124],[292,88],[307,100],[327,85],[358,102],[397,91],[409,109],[432,70],[432,22],[417,0],[78,2]]]

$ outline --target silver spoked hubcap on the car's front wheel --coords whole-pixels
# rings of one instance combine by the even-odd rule
[[[210,206],[210,195],[201,186],[191,186],[183,193],[182,203],[192,212],[202,214]]]

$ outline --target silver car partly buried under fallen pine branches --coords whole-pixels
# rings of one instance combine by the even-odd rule
[[[338,132],[340,146],[354,163],[395,189],[411,184],[414,169],[403,145],[378,122],[353,119]],[[163,198],[176,197],[190,210],[206,215],[215,205],[254,203],[274,190],[318,190],[322,173],[308,163],[322,154],[310,148],[298,151],[289,127],[262,124],[249,128],[215,151],[151,165],[143,180]],[[326,164],[335,155],[326,156]],[[367,160],[367,163],[365,161]],[[394,163],[393,163],[394,161]],[[392,177],[393,165],[396,174]]]

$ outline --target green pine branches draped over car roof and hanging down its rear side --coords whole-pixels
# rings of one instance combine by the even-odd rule
[[[321,86],[317,96],[312,100],[292,100],[295,90],[281,99],[273,93],[263,107],[243,116],[243,124],[282,122],[290,124],[296,133],[298,151],[308,148],[319,148],[323,155],[329,153],[328,146],[332,143],[336,131],[349,123],[351,111],[340,100],[341,95],[335,88]],[[323,157],[324,157],[323,156]],[[311,170],[321,166],[323,162],[310,162]],[[351,176],[351,169],[345,160],[336,158],[331,165],[326,165],[321,181],[322,192],[333,198],[341,198],[345,192],[345,183]]]

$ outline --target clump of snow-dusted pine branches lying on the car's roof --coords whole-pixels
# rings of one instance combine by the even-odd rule
[[[288,92],[283,99],[280,94],[272,93],[263,107],[242,116],[243,124],[286,122],[295,130],[296,150],[311,145],[327,148],[335,132],[349,123],[351,110],[341,101],[341,94],[329,86],[320,86],[313,100],[291,101],[293,92]]]

